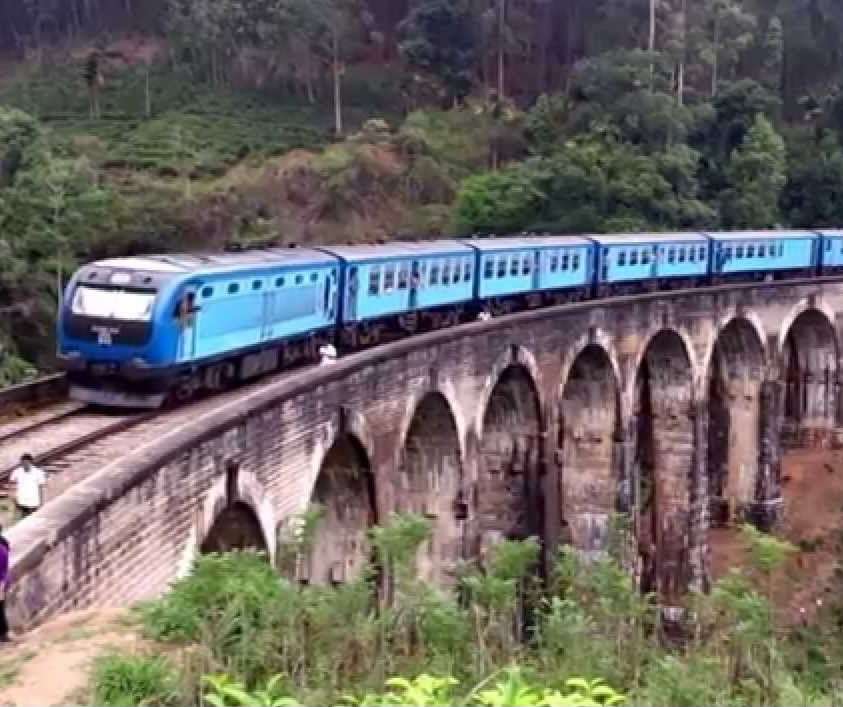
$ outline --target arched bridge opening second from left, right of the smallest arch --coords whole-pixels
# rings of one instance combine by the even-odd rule
[[[328,450],[311,501],[320,517],[302,579],[312,584],[358,579],[370,558],[367,532],[375,524],[375,490],[369,460],[356,439],[344,435]]]

